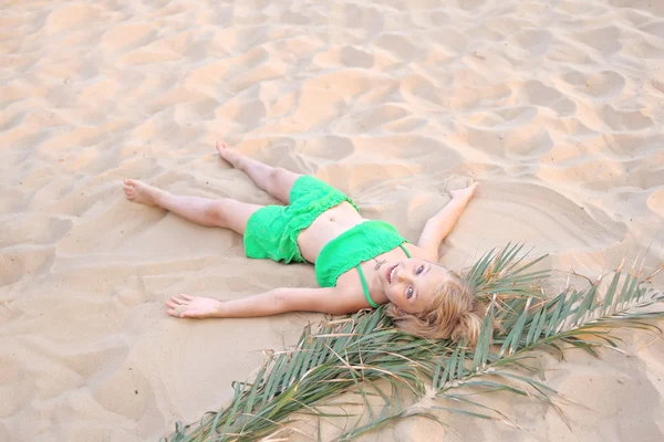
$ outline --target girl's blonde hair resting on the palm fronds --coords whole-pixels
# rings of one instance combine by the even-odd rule
[[[457,273],[448,276],[433,296],[429,309],[406,313],[394,304],[385,313],[397,328],[424,338],[444,338],[475,346],[487,304],[477,299],[471,287]]]

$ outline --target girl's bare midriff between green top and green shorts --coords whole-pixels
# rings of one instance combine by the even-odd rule
[[[314,263],[325,244],[364,221],[367,220],[347,201],[328,209],[298,235],[300,253],[307,261]]]

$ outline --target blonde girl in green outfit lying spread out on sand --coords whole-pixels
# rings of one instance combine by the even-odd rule
[[[437,264],[438,246],[473,198],[477,183],[452,191],[452,201],[426,222],[414,245],[391,224],[362,218],[350,198],[317,178],[263,165],[226,144],[217,144],[217,150],[287,206],[178,197],[131,179],[124,181],[124,192],[131,201],[243,234],[248,257],[315,263],[322,288],[274,288],[228,302],[181,294],[166,302],[166,313],[180,318],[255,317],[295,311],[342,315],[390,303],[386,314],[404,332],[477,340],[481,305],[461,277]]]

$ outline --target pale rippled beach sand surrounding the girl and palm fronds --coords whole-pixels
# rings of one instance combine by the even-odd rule
[[[156,440],[320,318],[165,315],[181,292],[315,283],[123,198],[131,177],[274,202],[215,140],[329,180],[411,240],[445,179],[474,177],[446,265],[510,240],[593,276],[649,245],[646,269],[664,260],[660,0],[4,0],[0,60],[2,441]],[[661,441],[664,343],[624,337],[630,356],[548,364],[585,407],[566,408],[571,430],[502,399],[523,431],[450,415],[446,438]],[[443,434],[406,421],[367,440]]]

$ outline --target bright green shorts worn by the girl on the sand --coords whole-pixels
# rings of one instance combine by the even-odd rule
[[[326,182],[301,176],[293,183],[289,206],[266,206],[249,217],[245,229],[247,257],[305,262],[298,248],[298,235],[321,213],[343,201],[353,204],[349,197]]]

